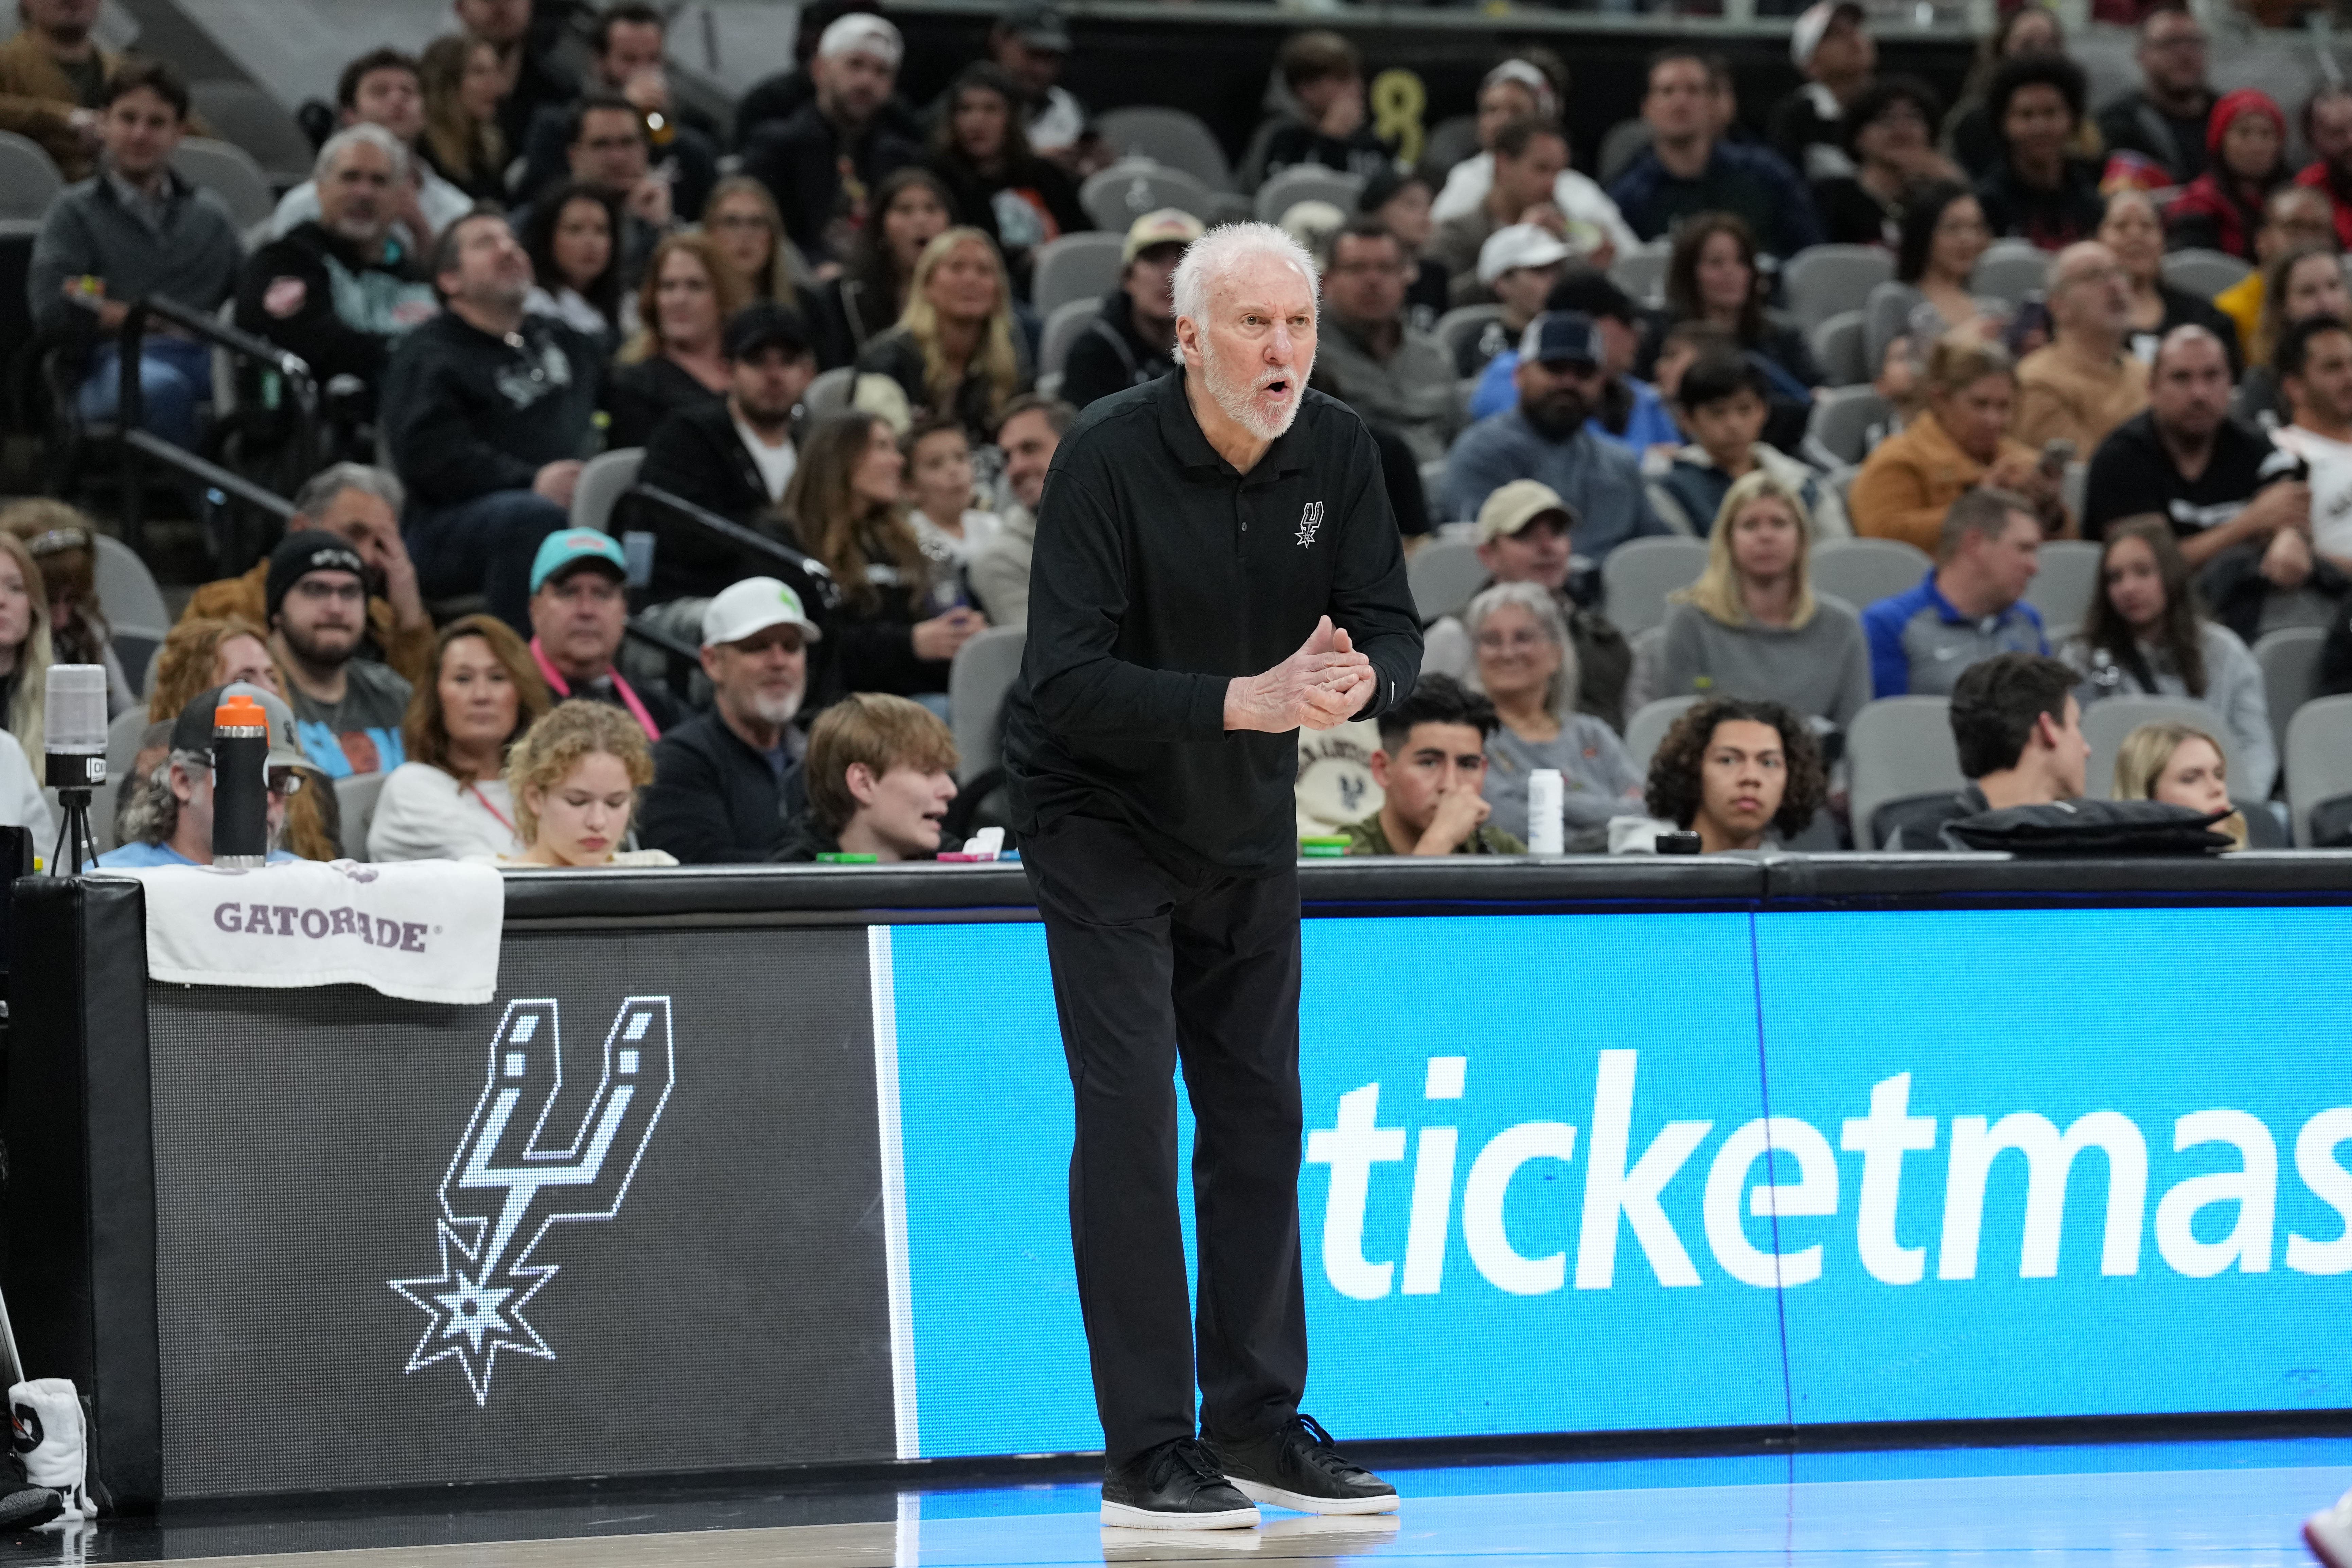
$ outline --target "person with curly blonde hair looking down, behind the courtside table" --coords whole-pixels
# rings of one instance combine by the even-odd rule
[[[654,752],[637,722],[609,703],[572,701],[506,755],[520,856],[470,856],[496,865],[677,865],[666,849],[621,849],[637,792],[654,783]]]

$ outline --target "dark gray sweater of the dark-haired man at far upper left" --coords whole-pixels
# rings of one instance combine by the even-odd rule
[[[214,310],[238,287],[245,242],[228,207],[169,174],[160,221],[134,212],[106,174],[68,186],[49,202],[26,270],[26,299],[42,329],[99,336],[99,317],[66,299],[66,280],[94,273],[106,299],[132,303],[169,294],[193,310]]]

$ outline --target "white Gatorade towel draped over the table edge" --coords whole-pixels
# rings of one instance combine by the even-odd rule
[[[158,865],[148,976],[191,985],[367,985],[409,1001],[489,1001],[506,882],[456,860]]]

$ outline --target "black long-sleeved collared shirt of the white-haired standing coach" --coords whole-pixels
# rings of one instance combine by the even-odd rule
[[[1296,736],[1225,733],[1225,686],[1298,651],[1319,616],[1381,686],[1414,689],[1421,621],[1364,421],[1303,393],[1247,475],[1162,376],[1091,404],[1037,508],[1028,649],[1004,705],[1021,832],[1080,813],[1216,867],[1296,853]]]

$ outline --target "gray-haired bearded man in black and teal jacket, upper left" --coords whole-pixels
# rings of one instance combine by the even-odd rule
[[[353,376],[362,409],[393,341],[440,303],[393,240],[409,150],[381,125],[346,125],[318,150],[318,216],[245,261],[238,327],[301,355],[320,386]]]

